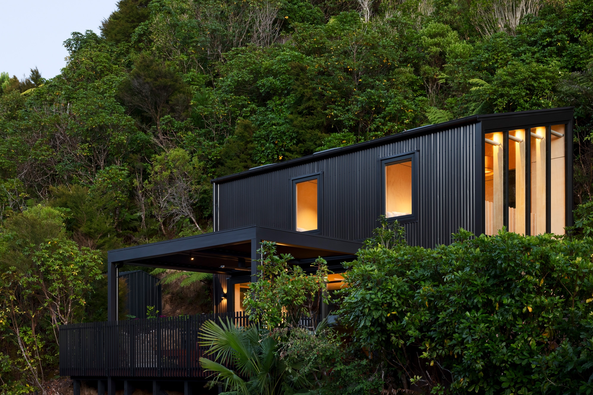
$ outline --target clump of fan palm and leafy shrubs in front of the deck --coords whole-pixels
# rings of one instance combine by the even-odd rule
[[[329,298],[324,259],[307,273],[288,264],[290,255],[275,255],[275,243],[262,242],[258,252],[258,281],[243,303],[250,325],[221,320],[202,327],[201,343],[214,360],[200,358],[200,365],[212,372],[212,386],[222,384],[229,395],[380,390],[383,382],[358,345],[346,346],[327,320],[314,319]]]

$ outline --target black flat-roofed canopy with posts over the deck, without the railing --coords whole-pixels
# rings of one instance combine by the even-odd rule
[[[318,256],[326,259],[334,272],[343,271],[342,262],[352,261],[362,244],[311,233],[247,226],[237,229],[182,237],[164,242],[122,248],[108,253],[108,317],[115,321],[117,311],[117,271],[127,264],[153,268],[208,272],[214,274],[214,313],[241,311],[235,294],[240,284],[256,281],[260,242],[276,242],[277,253],[290,253],[291,263],[305,270]]]

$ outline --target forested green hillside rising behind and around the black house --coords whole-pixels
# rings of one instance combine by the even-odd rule
[[[582,204],[574,235],[593,233],[590,0],[120,0],[100,35],[74,32],[64,46],[66,66],[54,78],[37,69],[24,79],[0,73],[2,393],[30,393],[58,373],[58,325],[105,319],[107,250],[212,230],[217,176],[471,114],[571,105],[573,196]],[[564,243],[547,242],[553,251]],[[438,273],[426,278],[449,275]],[[353,266],[356,275],[366,272]],[[171,290],[170,311],[177,314],[188,293],[187,303],[206,309],[203,283]],[[444,306],[442,295],[435,300]],[[586,314],[588,306],[581,306]],[[361,312],[348,308],[350,324],[359,325]],[[435,330],[449,325],[426,322]],[[398,352],[385,339],[357,336],[358,345]],[[447,343],[438,350],[441,359],[426,358],[447,362]],[[581,359],[574,366],[589,372]],[[378,369],[367,362],[362,371]],[[498,362],[480,369],[491,363]],[[455,369],[451,377],[466,372]],[[416,380],[419,371],[410,372],[402,383]],[[590,391],[581,373],[563,375],[558,386],[578,377]],[[490,386],[471,380],[476,391]],[[540,384],[517,388],[548,385]]]

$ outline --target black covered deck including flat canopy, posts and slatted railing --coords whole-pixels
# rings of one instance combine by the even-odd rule
[[[311,233],[247,226],[109,251],[109,320],[60,327],[60,375],[75,380],[75,395],[80,393],[81,380],[94,380],[101,395],[105,391],[115,395],[117,388],[131,395],[133,388],[148,383],[155,395],[161,384],[183,386],[187,395],[202,393],[197,388],[209,374],[200,367],[199,358],[211,356],[199,345],[200,327],[218,319],[247,324],[234,291],[241,293],[245,284],[257,280],[262,240],[276,242],[278,254],[290,253],[291,263],[306,270],[314,270],[311,263],[321,256],[334,272],[342,272],[342,262],[352,261],[362,246]],[[214,313],[118,321],[117,278],[125,264],[212,273]],[[340,282],[334,280],[329,283]]]

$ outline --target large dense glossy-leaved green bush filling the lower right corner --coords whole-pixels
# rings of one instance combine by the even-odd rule
[[[369,243],[349,265],[338,314],[353,341],[392,371],[387,384],[589,393],[593,240],[455,237],[435,249]]]

